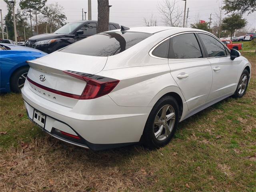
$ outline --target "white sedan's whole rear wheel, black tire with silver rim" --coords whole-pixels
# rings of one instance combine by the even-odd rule
[[[165,110],[166,114],[164,115],[163,112]],[[163,118],[164,116],[166,119]],[[178,122],[179,107],[177,101],[172,96],[160,98],[152,108],[146,121],[142,135],[142,144],[148,148],[165,146],[174,136]]]

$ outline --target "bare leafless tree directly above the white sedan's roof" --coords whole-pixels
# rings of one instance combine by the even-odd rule
[[[157,9],[166,26],[182,26],[184,12],[177,5],[176,0],[163,0],[163,3],[158,5]]]

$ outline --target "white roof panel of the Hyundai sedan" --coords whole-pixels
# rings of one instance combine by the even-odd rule
[[[200,29],[194,29],[194,28],[183,28],[183,27],[167,27],[167,26],[152,26],[152,27],[131,27],[128,30],[125,31],[130,31],[130,32],[144,32],[144,33],[158,33],[162,32],[165,30],[175,30],[175,31],[180,31],[180,32],[189,32],[189,31],[198,31],[198,32],[207,32],[204,30]],[[112,30],[112,31],[120,31],[120,29]],[[207,32],[208,33],[208,32]]]

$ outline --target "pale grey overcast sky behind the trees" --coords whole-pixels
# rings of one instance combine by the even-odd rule
[[[16,0],[19,2],[20,0]],[[157,6],[164,0],[109,0],[110,8],[110,21],[119,23],[120,25],[135,27],[145,26],[143,18],[150,18],[153,14],[157,20],[157,25],[163,25],[161,14],[158,12]],[[47,4],[58,2],[63,6],[63,12],[67,16],[67,21],[82,20],[82,8],[88,12],[87,0],[48,0]],[[178,6],[184,10],[185,2],[182,0],[176,0]],[[195,22],[196,14],[199,13],[200,20],[209,21],[210,13],[212,18],[216,20],[215,12],[218,12],[219,6],[222,0],[187,0],[187,8],[189,8],[188,14],[188,26],[190,23]],[[92,20],[97,20],[97,0],[92,0]],[[0,8],[2,9],[3,17],[6,15],[6,4],[3,0],[0,0]],[[244,14],[244,18],[247,19],[250,28],[256,27],[256,12],[247,16]],[[86,15],[88,19],[88,15]]]

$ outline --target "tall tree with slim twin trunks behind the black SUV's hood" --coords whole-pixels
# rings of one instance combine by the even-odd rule
[[[32,32],[32,15],[33,12],[36,16],[36,32],[38,34],[38,22],[37,15],[41,12],[42,8],[44,8],[47,0],[21,0],[20,8],[22,10],[26,10],[30,14],[30,24],[31,24],[31,32]]]

